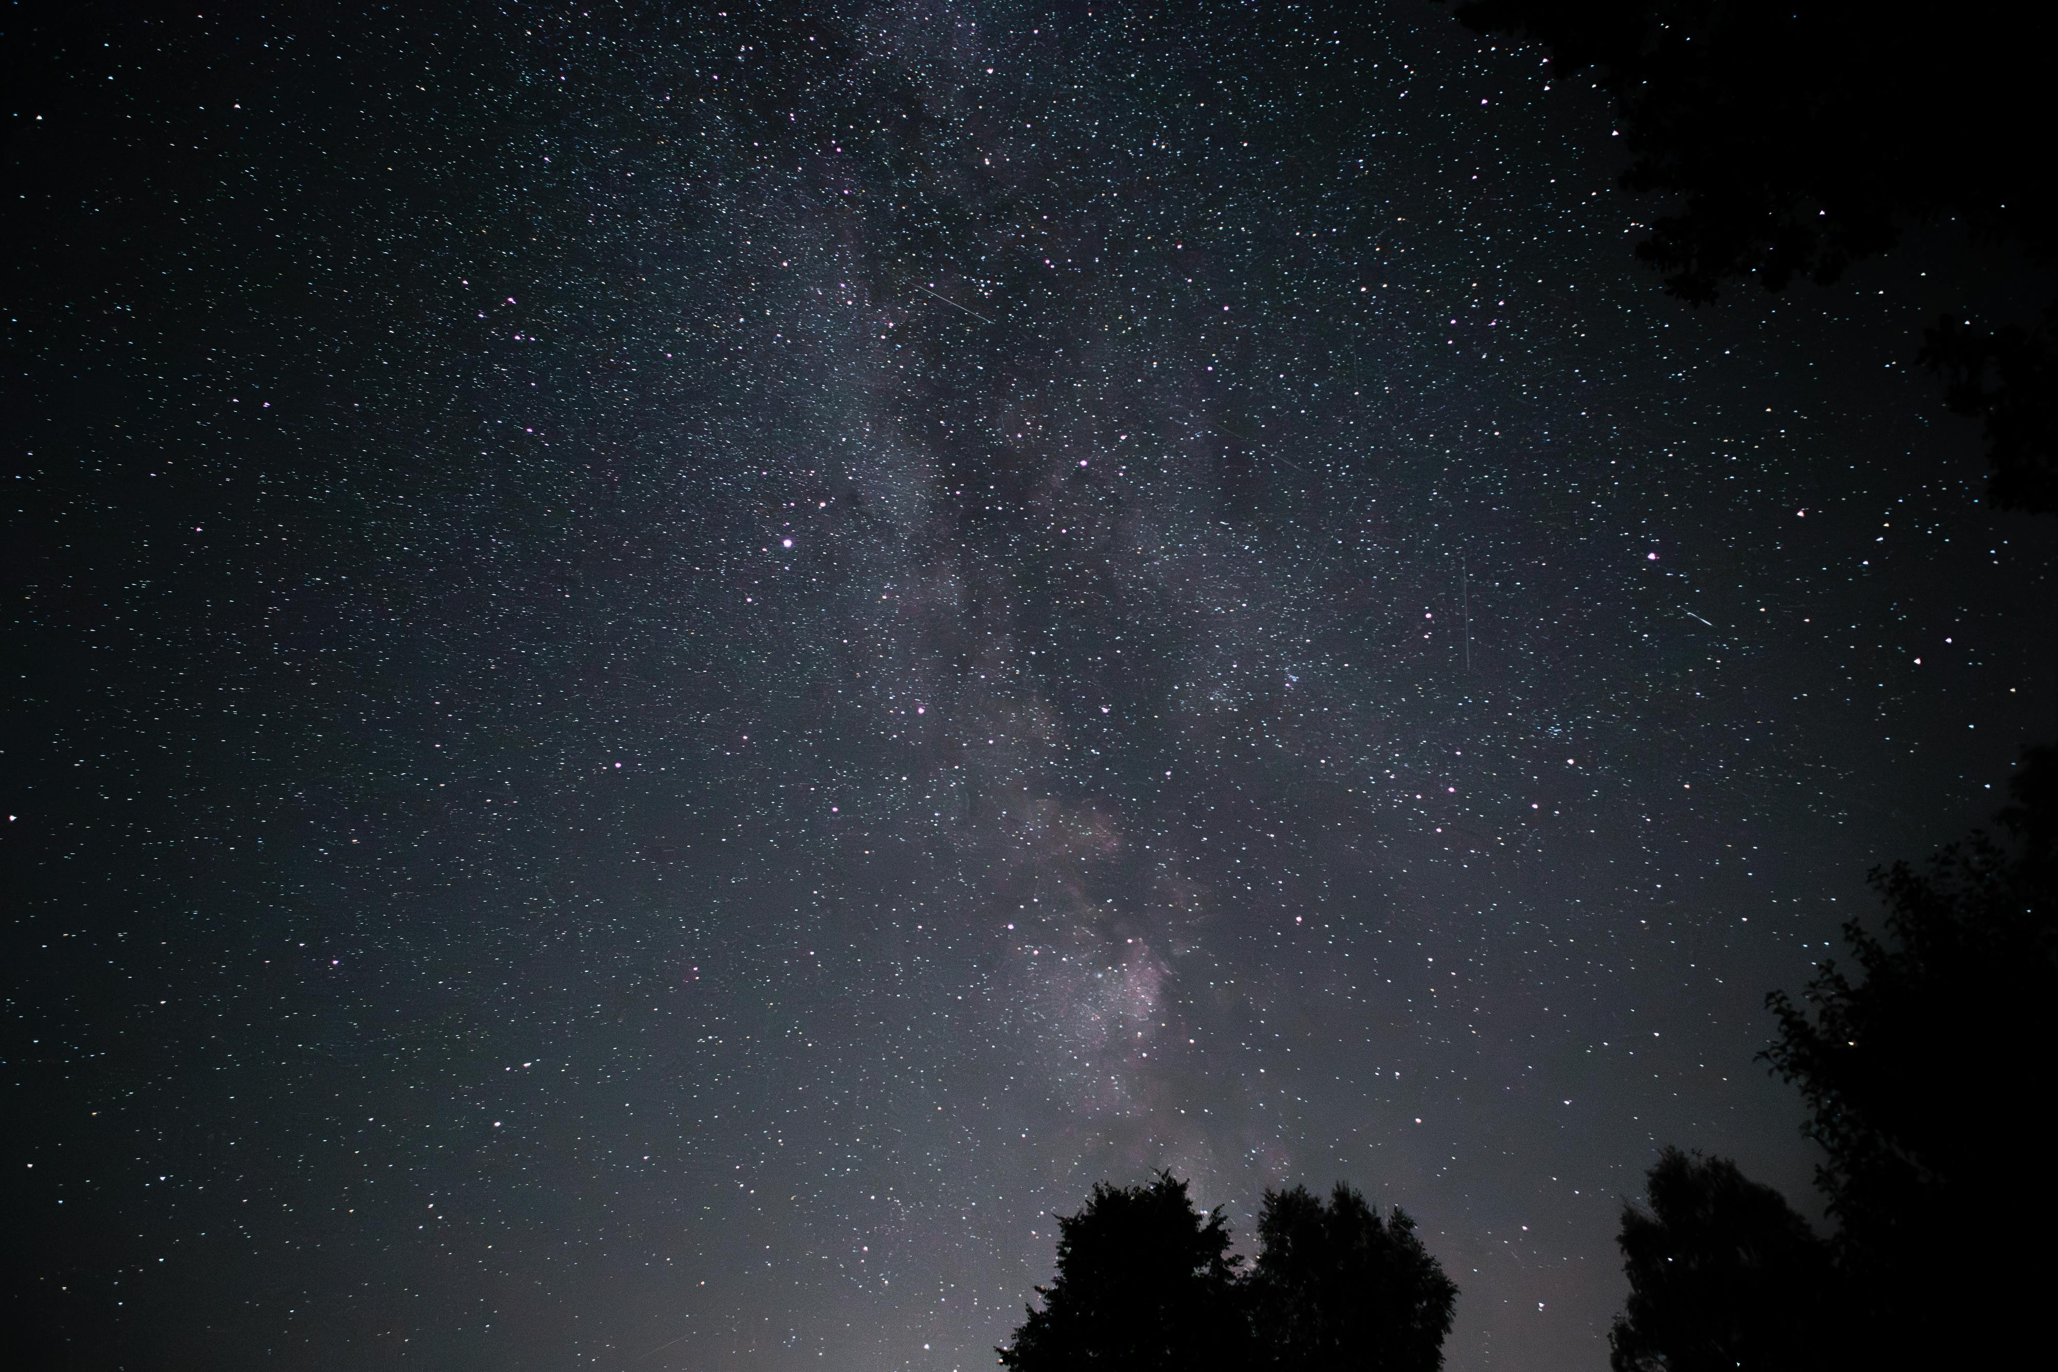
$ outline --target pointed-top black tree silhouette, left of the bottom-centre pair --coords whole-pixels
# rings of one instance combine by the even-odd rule
[[[1015,1329],[1000,1366],[1023,1372],[1222,1372],[1249,1366],[1237,1265],[1220,1212],[1202,1216],[1185,1183],[1099,1183],[1058,1216],[1058,1275]]]

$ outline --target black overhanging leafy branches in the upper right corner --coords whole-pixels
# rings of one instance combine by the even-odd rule
[[[2050,6],[1893,19],[1856,0],[1457,0],[1482,33],[1537,41],[1599,82],[1630,152],[1624,185],[1669,197],[1638,255],[1667,290],[1834,282],[1912,220],[1953,218],[2031,261],[2058,257],[2048,142]],[[2035,156],[2035,154],[2031,154]],[[1982,416],[2002,508],[2058,512],[2048,331],[1930,335],[1949,401]]]

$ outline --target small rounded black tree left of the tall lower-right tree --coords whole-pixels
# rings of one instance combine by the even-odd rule
[[[1830,1247],[1727,1158],[1667,1148],[1622,1207],[1630,1300],[1607,1335],[1616,1372],[1815,1368],[1836,1325]]]

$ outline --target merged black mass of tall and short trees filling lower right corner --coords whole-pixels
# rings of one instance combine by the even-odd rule
[[[1986,1366],[2037,1333],[2058,1181],[2037,1164],[2058,1045],[2058,747],[2027,749],[2000,839],[1873,872],[1887,917],[1844,926],[1764,1059],[1809,1107],[1838,1232],[1817,1240],[1733,1162],[1665,1150],[1624,1207],[1616,1372]],[[2007,1255],[2007,1257],[2002,1257]]]

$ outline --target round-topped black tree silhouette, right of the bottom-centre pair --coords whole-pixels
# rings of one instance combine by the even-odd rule
[[[1457,1286],[1416,1238],[1344,1183],[1266,1191],[1249,1277],[1257,1358],[1292,1372],[1436,1372]]]

